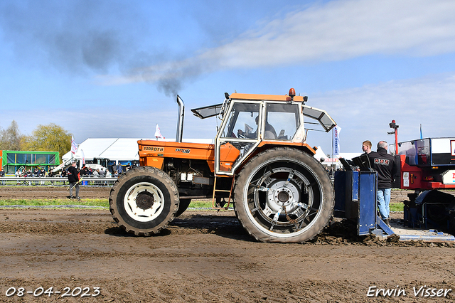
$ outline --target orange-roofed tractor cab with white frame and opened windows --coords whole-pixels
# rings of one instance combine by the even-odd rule
[[[305,143],[304,116],[317,119],[328,132],[336,123],[323,110],[304,105],[307,97],[225,93],[225,102],[192,110],[204,119],[218,116],[223,122],[215,137],[215,174],[232,176],[257,147]]]

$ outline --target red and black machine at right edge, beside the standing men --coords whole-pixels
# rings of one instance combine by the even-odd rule
[[[400,166],[395,187],[414,190],[408,195],[410,201],[405,201],[405,223],[455,233],[455,137],[394,145],[390,151],[397,150]]]

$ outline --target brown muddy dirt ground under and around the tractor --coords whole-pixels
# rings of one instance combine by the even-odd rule
[[[1,199],[66,195],[65,188],[0,186]],[[108,195],[109,188],[80,192],[82,198]],[[392,198],[404,200],[405,194]],[[394,216],[398,223],[402,215]],[[108,209],[0,208],[0,232],[0,302],[455,298],[454,245],[380,242],[355,236],[355,226],[346,222],[334,222],[311,243],[267,244],[252,240],[233,211],[186,211],[163,234],[137,238],[118,228]],[[38,296],[50,287],[53,294]],[[414,294],[421,287],[430,290]],[[376,296],[378,289],[395,296],[383,297],[382,290]]]

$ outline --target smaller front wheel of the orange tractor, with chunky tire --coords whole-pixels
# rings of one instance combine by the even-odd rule
[[[154,167],[139,166],[119,176],[109,195],[112,218],[127,233],[159,233],[178,210],[178,190],[172,179]]]

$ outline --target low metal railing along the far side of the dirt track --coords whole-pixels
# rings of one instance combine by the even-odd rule
[[[96,176],[84,176],[80,186],[112,186],[117,177],[100,178]],[[66,177],[11,177],[5,176],[0,178],[0,186],[68,186]]]

